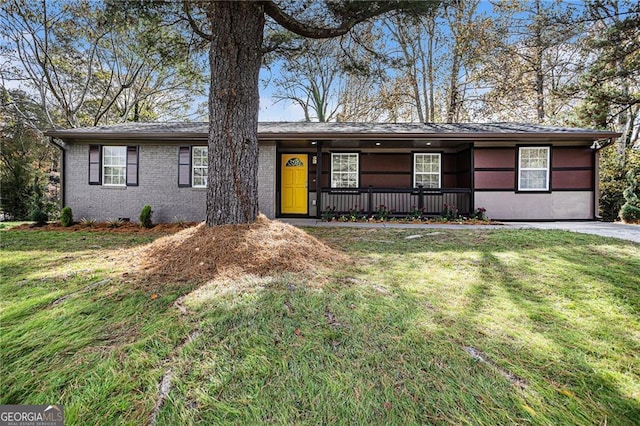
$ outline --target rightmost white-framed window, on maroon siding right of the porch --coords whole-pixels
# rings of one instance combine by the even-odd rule
[[[518,190],[549,190],[548,146],[521,147],[518,150]]]

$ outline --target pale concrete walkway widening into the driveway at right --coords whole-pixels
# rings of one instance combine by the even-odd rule
[[[316,219],[280,219],[295,226],[352,227],[352,228],[402,228],[402,229],[560,229],[602,237],[619,238],[640,243],[640,225],[626,225],[610,222],[502,222],[501,225],[453,225],[453,224],[415,224],[415,223],[360,223],[360,222],[322,222]]]

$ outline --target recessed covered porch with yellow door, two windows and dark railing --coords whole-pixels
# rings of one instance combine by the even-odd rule
[[[276,152],[278,217],[438,216],[445,206],[473,212],[468,139],[279,140]]]

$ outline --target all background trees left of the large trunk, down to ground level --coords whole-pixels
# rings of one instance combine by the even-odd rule
[[[117,3],[0,5],[2,212],[25,219],[55,195],[46,128],[188,120],[205,93],[199,39]]]

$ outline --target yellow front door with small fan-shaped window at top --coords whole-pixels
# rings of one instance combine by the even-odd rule
[[[282,214],[307,214],[307,154],[282,154]]]

